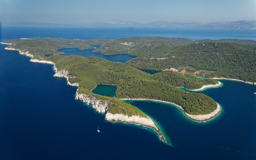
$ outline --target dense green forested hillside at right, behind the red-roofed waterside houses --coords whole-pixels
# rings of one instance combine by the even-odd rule
[[[158,54],[165,59],[137,57],[127,64],[142,69],[164,69],[191,67],[196,70],[212,71],[206,77],[235,78],[256,82],[256,45],[241,45],[235,43],[194,43],[173,46],[162,44],[141,51]],[[164,51],[164,52],[161,52]]]

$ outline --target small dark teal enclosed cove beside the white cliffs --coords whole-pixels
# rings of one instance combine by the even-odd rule
[[[116,97],[116,86],[109,85],[109,84],[98,84],[92,90],[92,93],[115,98]]]

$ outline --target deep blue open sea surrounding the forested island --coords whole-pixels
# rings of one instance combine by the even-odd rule
[[[256,31],[184,28],[1,27],[1,42],[32,37],[89,39],[166,36],[256,40]],[[80,100],[76,87],[0,44],[0,159],[256,159],[256,85],[222,80],[201,91],[222,106],[206,123],[176,107],[126,101],[152,117],[168,139],[135,124],[111,123]],[[100,133],[97,132],[99,126]]]

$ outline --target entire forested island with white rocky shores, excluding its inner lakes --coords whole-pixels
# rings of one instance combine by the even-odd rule
[[[5,48],[7,50],[17,50],[20,54],[31,57],[32,62],[54,65],[56,72],[54,76],[65,77],[69,85],[77,86],[76,99],[83,100],[97,112],[106,114],[106,120],[151,127],[164,142],[166,139],[153,119],[135,106],[121,100],[153,100],[173,104],[188,118],[204,122],[221,112],[220,105],[207,95],[187,92],[178,87],[198,91],[219,87],[221,83],[210,78],[199,79],[191,74],[248,79],[248,83],[252,84],[256,82],[254,67],[256,41],[251,40],[195,42],[186,38],[166,37],[130,37],[115,40],[22,38],[8,40],[2,44],[9,45]],[[97,57],[64,56],[61,52],[56,52],[60,48],[68,47],[94,48],[89,44],[100,45],[101,48],[95,49],[94,52],[102,54],[126,52],[138,57],[120,63]],[[240,68],[236,68],[237,65]],[[150,75],[137,68],[177,68],[178,72],[169,69]],[[116,97],[120,100],[92,93],[97,84],[115,85]]]

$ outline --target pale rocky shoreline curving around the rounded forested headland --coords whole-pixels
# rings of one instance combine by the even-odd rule
[[[212,113],[210,114],[207,114],[207,115],[190,115],[188,114],[187,112],[185,112],[185,110],[175,104],[175,103],[172,103],[172,102],[167,102],[167,101],[163,101],[163,100],[153,100],[153,99],[137,99],[137,98],[134,98],[134,99],[131,99],[131,98],[125,98],[125,99],[119,99],[119,100],[152,100],[152,101],[156,101],[156,102],[163,102],[163,103],[168,103],[168,104],[172,104],[178,108],[180,108],[180,110],[182,110],[182,112],[184,113],[184,115],[186,117],[188,117],[189,119],[193,120],[193,121],[196,121],[196,122],[206,122],[206,121],[209,121],[211,119],[213,119],[214,117],[218,116],[221,112],[221,107],[220,105],[217,103],[217,108],[215,111],[213,111]]]

